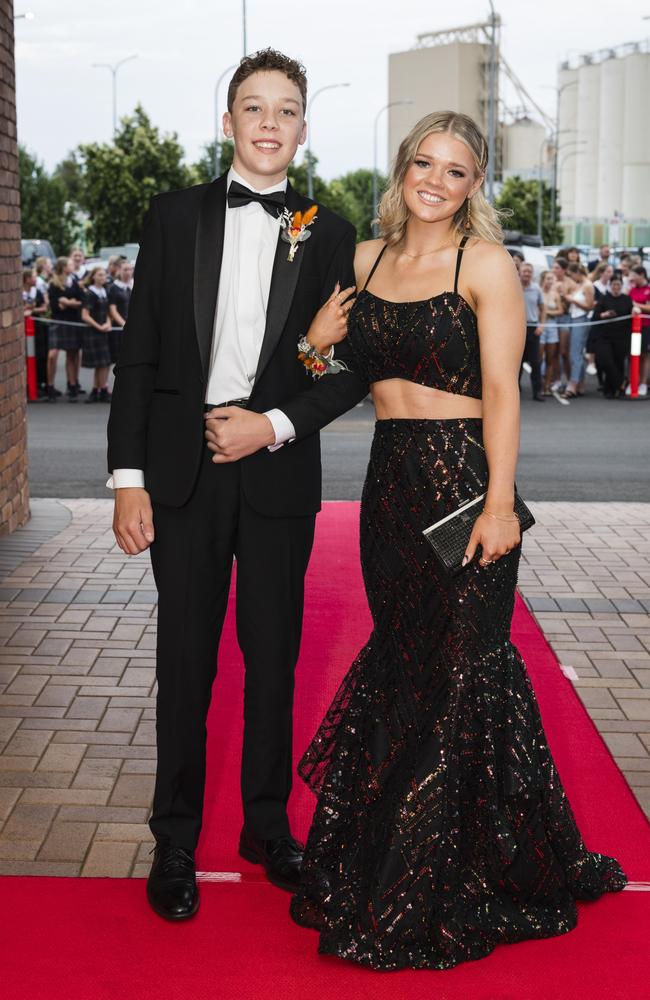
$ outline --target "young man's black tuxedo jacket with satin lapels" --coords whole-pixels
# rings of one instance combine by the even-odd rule
[[[310,202],[288,185],[287,208]],[[204,444],[203,404],[209,374],[219,273],[224,253],[226,175],[212,184],[157,195],[145,222],[129,317],[124,327],[108,422],[109,471],[144,469],[155,502],[181,507],[197,479]],[[279,232],[279,230],[278,230]],[[297,342],[340,281],[354,284],[355,232],[319,207],[311,237],[295,259],[278,238],[266,328],[249,408],[282,409],[296,440],[242,460],[248,503],[272,517],[320,508],[318,431],[363,399],[347,344],[337,358],[352,369],[314,382],[297,358]],[[220,402],[214,400],[211,402]]]

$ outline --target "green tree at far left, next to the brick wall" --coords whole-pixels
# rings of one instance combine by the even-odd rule
[[[49,240],[57,254],[67,253],[76,235],[74,206],[60,178],[23,146],[18,148],[20,212],[23,237]]]

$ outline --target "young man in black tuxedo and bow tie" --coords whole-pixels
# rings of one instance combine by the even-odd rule
[[[325,208],[294,256],[280,238],[282,211],[310,207],[287,181],[305,108],[298,63],[273,50],[242,60],[224,115],[233,167],[153,199],[116,372],[113,527],[124,552],[150,548],[159,593],[147,892],[171,920],[199,903],[205,720],[233,556],[246,665],[239,850],[284,889],[300,879],[286,806],[318,430],[367,392],[353,370],[313,380],[298,359],[310,328],[345,323],[354,284],[354,229]],[[337,359],[349,361],[345,344]]]

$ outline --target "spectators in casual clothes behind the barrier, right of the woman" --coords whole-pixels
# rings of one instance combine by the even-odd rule
[[[513,253],[526,303],[522,371],[530,374],[533,399],[549,396],[563,405],[584,396],[586,376],[596,377],[605,399],[630,394],[632,316],[640,314],[639,395],[650,374],[650,283],[640,257],[624,253],[614,266],[608,246],[587,265],[577,247],[561,249],[539,283],[523,255]]]

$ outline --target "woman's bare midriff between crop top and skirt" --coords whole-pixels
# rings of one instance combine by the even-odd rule
[[[373,382],[370,391],[377,420],[461,420],[483,416],[480,399],[402,378]]]

